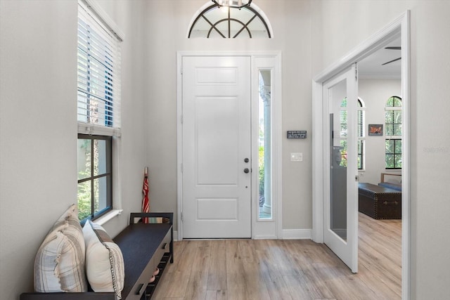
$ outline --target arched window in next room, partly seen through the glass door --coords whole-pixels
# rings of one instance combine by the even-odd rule
[[[361,98],[358,98],[358,112],[357,112],[357,136],[358,136],[358,169],[364,169],[364,103]],[[341,166],[347,167],[347,97],[342,99],[340,103],[340,146],[341,150]]]

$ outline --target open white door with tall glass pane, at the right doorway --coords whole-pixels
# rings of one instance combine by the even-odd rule
[[[324,241],[358,271],[356,64],[323,84]]]

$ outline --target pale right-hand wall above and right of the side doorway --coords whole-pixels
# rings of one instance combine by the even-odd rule
[[[322,37],[314,39],[314,73],[411,10],[411,299],[448,298],[450,1],[311,3]]]

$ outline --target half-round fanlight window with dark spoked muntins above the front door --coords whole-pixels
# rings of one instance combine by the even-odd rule
[[[207,38],[271,38],[272,30],[264,12],[255,4],[243,8],[219,6],[208,2],[195,13],[188,39]]]

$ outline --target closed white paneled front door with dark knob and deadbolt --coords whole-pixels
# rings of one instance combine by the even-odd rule
[[[251,237],[250,57],[182,69],[183,237]]]

